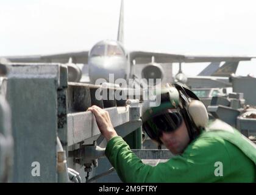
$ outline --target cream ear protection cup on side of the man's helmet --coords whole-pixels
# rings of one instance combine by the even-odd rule
[[[188,114],[196,127],[205,127],[208,122],[208,113],[205,105],[198,100],[191,100],[188,104]]]

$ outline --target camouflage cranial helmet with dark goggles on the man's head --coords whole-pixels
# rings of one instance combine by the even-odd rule
[[[183,85],[175,84],[162,88],[155,97],[161,100],[160,105],[151,106],[150,101],[144,101],[142,108],[143,130],[148,136],[161,144],[162,133],[178,129],[184,120],[193,140],[197,127],[188,115],[188,105],[191,99],[198,101],[197,96]]]

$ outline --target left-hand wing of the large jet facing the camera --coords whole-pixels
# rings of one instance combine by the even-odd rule
[[[24,56],[6,56],[5,59],[10,62],[35,62],[35,63],[68,63],[69,58],[72,58],[73,63],[88,63],[88,51],[69,52],[64,54],[54,55],[24,55]]]

